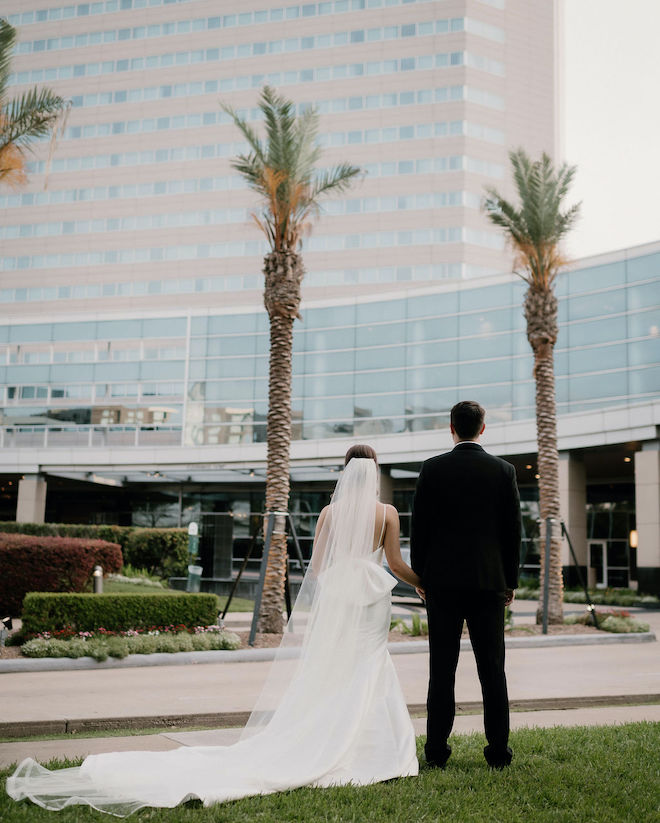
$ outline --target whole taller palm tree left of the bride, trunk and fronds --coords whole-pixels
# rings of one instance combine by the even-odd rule
[[[305,274],[300,254],[302,238],[319,213],[319,200],[348,188],[360,169],[342,163],[317,171],[318,115],[307,109],[296,116],[294,104],[265,86],[259,109],[265,121],[265,140],[229,106],[247,140],[249,151],[239,155],[233,168],[262,199],[252,214],[263,231],[269,251],[264,257],[264,304],[270,319],[268,417],[266,427],[266,511],[286,512],[289,505],[289,446],[291,443],[291,354],[293,321],[300,318],[300,287]],[[272,537],[259,631],[282,631],[282,603],[286,569],[286,524],[277,517]]]

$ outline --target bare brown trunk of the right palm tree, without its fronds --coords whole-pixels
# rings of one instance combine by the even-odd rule
[[[525,295],[527,338],[534,352],[536,381],[536,437],[538,443],[539,508],[541,516],[541,576],[545,582],[546,518],[554,518],[550,543],[548,622],[562,623],[564,581],[561,565],[559,508],[559,452],[555,396],[554,345],[557,340],[557,298],[550,289],[530,286]],[[541,608],[536,615],[541,622]]]

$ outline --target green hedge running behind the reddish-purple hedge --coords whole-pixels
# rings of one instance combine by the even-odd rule
[[[147,569],[162,577],[186,574],[188,532],[186,529],[139,529],[135,526],[89,525],[84,523],[0,522],[0,532],[51,537],[85,537],[118,543],[125,563]]]

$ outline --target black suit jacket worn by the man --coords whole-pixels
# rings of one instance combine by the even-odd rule
[[[515,589],[520,537],[520,496],[510,463],[472,442],[424,462],[410,559],[425,588]]]

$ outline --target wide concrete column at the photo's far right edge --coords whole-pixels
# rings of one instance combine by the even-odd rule
[[[637,579],[639,591],[660,594],[660,443],[635,454]]]

